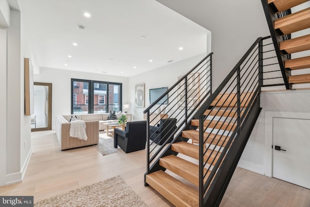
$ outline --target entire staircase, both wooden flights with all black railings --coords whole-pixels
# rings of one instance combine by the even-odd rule
[[[158,98],[168,95],[168,105],[155,102],[144,111],[148,137],[146,186],[178,207],[219,206],[261,111],[261,87],[285,85],[292,89],[296,84],[310,83],[310,56],[300,53],[310,50],[310,34],[305,34],[310,28],[310,8],[293,14],[295,8],[291,10],[307,1],[262,0],[271,36],[259,37],[214,92],[210,53]],[[305,31],[296,36],[301,30]],[[272,43],[263,43],[270,37]],[[274,49],[269,49],[272,45]],[[270,51],[275,55],[268,57]],[[273,58],[278,59],[277,63],[270,63]],[[275,64],[280,70],[267,68]],[[270,77],[272,73],[278,75]],[[284,83],[263,82],[276,79]],[[162,108],[177,119],[177,125],[159,145],[149,139],[154,136],[150,123]]]

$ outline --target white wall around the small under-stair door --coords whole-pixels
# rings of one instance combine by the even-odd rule
[[[265,112],[279,111],[284,114],[289,112],[310,113],[309,100],[310,90],[263,92],[261,94],[261,107],[263,110],[253,128],[238,166],[268,175],[268,169],[265,169],[265,164],[271,162],[271,160],[269,158],[266,159],[265,156],[266,152],[271,149],[271,145],[265,146],[265,143],[272,143],[272,140],[265,140]],[[272,137],[266,138],[272,139]]]

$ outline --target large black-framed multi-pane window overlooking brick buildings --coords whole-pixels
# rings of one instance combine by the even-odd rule
[[[122,110],[122,83],[71,79],[71,114]]]

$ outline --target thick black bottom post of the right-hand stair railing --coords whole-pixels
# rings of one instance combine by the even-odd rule
[[[199,117],[199,206],[203,207],[203,115]]]

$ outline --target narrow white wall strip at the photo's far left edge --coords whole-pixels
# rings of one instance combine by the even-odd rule
[[[7,88],[6,88],[6,74],[7,74],[7,64],[6,64],[6,42],[7,35],[6,30],[0,29],[0,88],[2,90],[2,101],[0,101],[0,186],[5,185],[6,176],[6,128],[7,128]]]

